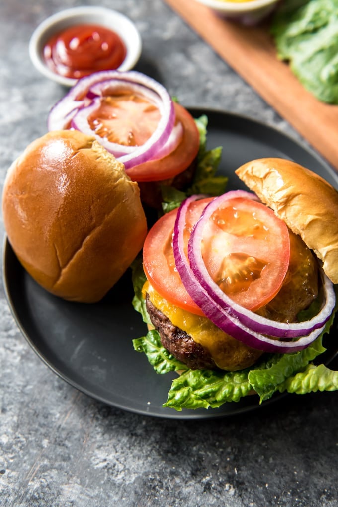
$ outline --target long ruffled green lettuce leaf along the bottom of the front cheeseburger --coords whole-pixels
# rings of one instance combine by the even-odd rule
[[[337,389],[338,372],[312,363],[325,351],[321,342],[322,336],[302,351],[270,354],[255,367],[239,372],[186,370],[173,380],[163,406],[177,411],[183,408],[216,408],[224,403],[238,402],[251,392],[257,392],[259,403],[262,403],[277,391],[301,394]]]

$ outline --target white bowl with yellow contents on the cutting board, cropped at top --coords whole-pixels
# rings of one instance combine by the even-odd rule
[[[249,2],[223,2],[222,0],[196,0],[217,14],[245,25],[254,25],[266,18],[280,0],[250,0]]]

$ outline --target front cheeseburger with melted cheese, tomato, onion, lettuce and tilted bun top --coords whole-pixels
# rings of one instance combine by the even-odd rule
[[[165,404],[176,410],[338,388],[337,372],[312,362],[335,306],[338,193],[284,159],[236,174],[250,192],[192,196],[144,242],[153,330],[134,347],[158,373],[181,373]]]

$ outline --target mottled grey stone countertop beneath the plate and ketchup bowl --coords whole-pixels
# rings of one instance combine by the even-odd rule
[[[33,68],[32,30],[50,14],[78,5],[0,2],[1,189],[11,162],[46,132],[47,112],[65,93]],[[101,0],[101,5],[135,21],[143,40],[136,68],[181,103],[244,114],[304,142],[166,4]],[[2,220],[0,227],[3,237]],[[338,392],[290,395],[248,414],[202,421],[108,407],[68,385],[37,357],[17,328],[2,281],[0,409],[4,507],[338,503]]]

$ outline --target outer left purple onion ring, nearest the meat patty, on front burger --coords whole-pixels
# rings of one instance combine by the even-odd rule
[[[234,191],[231,192],[232,197],[241,196],[239,192],[242,191]],[[247,193],[251,198],[250,195]],[[180,206],[175,222],[174,234],[173,234],[173,250],[175,257],[175,264],[177,271],[181,277],[182,282],[196,302],[196,304],[202,309],[206,317],[209,318],[219,329],[227,333],[228,335],[236,338],[237,340],[245,343],[246,345],[253,347],[258,350],[262,350],[265,352],[277,352],[277,353],[290,353],[296,352],[298,350],[303,350],[308,347],[323,331],[324,323],[321,328],[318,328],[310,333],[303,335],[297,341],[277,341],[271,339],[263,334],[257,333],[243,324],[236,315],[232,315],[229,313],[228,309],[224,309],[219,306],[219,304],[212,299],[210,294],[206,291],[205,287],[201,285],[199,280],[197,279],[195,273],[193,272],[188,259],[186,258],[184,252],[184,239],[183,232],[185,227],[185,218],[186,212],[189,208],[190,203],[197,199],[198,196],[192,196],[186,199]],[[217,198],[216,198],[217,199]],[[213,203],[214,201],[211,201]],[[210,203],[210,204],[211,204]],[[209,204],[209,205],[210,205]],[[332,284],[329,282],[329,285],[332,289]],[[331,295],[328,294],[330,292],[328,288],[328,284],[324,283],[324,291],[326,299],[330,299]],[[333,295],[334,299],[334,295]],[[253,316],[257,317],[255,314],[250,312]],[[261,317],[259,317],[261,319]],[[258,319],[258,320],[259,320]],[[264,319],[268,320],[268,319]],[[274,325],[277,322],[269,321],[270,325]],[[290,325],[290,324],[289,324]]]

